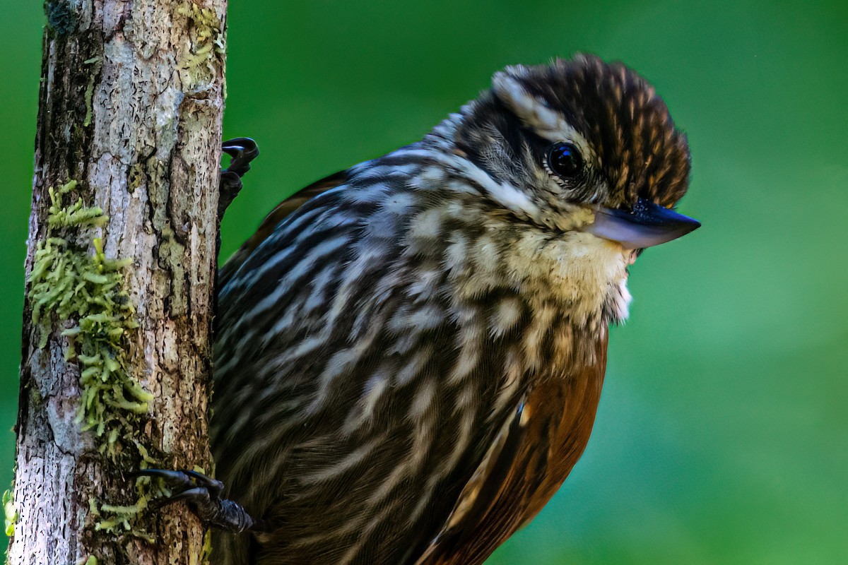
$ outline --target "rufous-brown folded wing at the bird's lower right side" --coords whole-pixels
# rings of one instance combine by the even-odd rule
[[[505,422],[416,565],[474,565],[527,524],[559,490],[589,441],[606,367],[596,363],[542,379]]]

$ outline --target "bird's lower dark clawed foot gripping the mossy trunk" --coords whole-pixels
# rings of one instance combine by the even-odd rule
[[[237,502],[221,498],[224,484],[196,471],[170,471],[165,469],[143,469],[137,476],[159,477],[165,480],[173,494],[165,504],[186,501],[204,524],[240,534],[248,529],[260,530],[261,522],[255,520]]]

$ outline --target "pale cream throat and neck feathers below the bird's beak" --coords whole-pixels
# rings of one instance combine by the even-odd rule
[[[482,259],[456,278],[456,296],[492,302],[485,308],[488,335],[523,326],[512,335],[525,366],[557,374],[592,365],[598,336],[628,316],[628,261],[617,244],[493,222],[468,245]]]

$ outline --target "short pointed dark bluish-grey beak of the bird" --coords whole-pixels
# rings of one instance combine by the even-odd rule
[[[618,241],[625,249],[642,249],[676,240],[698,228],[698,220],[639,198],[629,212],[596,208],[594,222],[583,230],[607,240]]]

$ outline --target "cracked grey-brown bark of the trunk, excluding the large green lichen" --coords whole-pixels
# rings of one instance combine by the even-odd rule
[[[45,12],[26,273],[47,233],[47,189],[80,181],[76,194],[109,215],[95,230],[106,256],[133,260],[129,371],[155,396],[142,442],[165,467],[209,470],[226,0],[47,0]],[[25,305],[9,562],[202,562],[202,527],[182,505],[144,518],[153,545],[93,527],[90,498],[132,504],[135,491],[130,469],[75,424],[79,368],[64,360],[63,324],[38,349]]]

